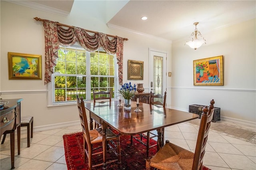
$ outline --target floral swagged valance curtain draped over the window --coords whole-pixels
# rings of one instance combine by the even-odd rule
[[[124,38],[116,37],[109,39],[106,34],[98,33],[89,35],[86,30],[78,27],[63,28],[58,26],[57,22],[44,20],[44,38],[45,38],[45,74],[44,85],[51,81],[51,75],[56,66],[58,58],[58,49],[60,45],[70,46],[75,42],[86,49],[86,51],[96,51],[102,47],[108,54],[116,54],[118,60],[119,84],[123,82],[123,47]]]

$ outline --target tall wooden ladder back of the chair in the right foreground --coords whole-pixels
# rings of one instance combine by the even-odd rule
[[[214,100],[210,101],[210,106],[205,106],[203,108],[203,113],[201,116],[200,126],[198,130],[197,142],[196,142],[196,150],[194,153],[193,160],[193,170],[200,170],[203,166],[203,158],[205,153],[205,148],[208,139],[208,133],[210,131],[210,125],[214,113]]]

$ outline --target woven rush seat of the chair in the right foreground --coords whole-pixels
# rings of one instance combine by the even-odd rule
[[[166,143],[151,159],[150,166],[161,170],[191,170],[194,153]]]

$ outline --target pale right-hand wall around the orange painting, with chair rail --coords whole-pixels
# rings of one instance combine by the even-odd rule
[[[256,20],[202,35],[207,44],[194,50],[186,40],[172,42],[172,108],[214,99],[222,118],[256,123]],[[199,30],[200,31],[200,30]],[[223,55],[224,86],[194,86],[193,60]]]

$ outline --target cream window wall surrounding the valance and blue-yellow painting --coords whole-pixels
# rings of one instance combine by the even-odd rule
[[[82,6],[86,4],[86,9]],[[94,4],[91,4],[94,3]],[[95,6],[95,8],[92,8]],[[106,26],[105,4],[100,1],[74,1],[68,17],[58,16],[32,8],[0,1],[1,10],[1,57],[0,57],[0,91],[3,99],[23,98],[22,116],[32,115],[35,128],[60,127],[62,123],[79,123],[76,105],[48,107],[48,86],[44,85],[44,27],[42,22],[34,20],[39,17],[57,21],[62,24],[77,26],[87,30],[103,32],[128,38],[124,42],[124,81],[127,80],[127,61],[134,59],[144,61],[144,80],[131,81],[144,83],[148,90],[148,48],[171,53],[171,43],[151,38],[128,34],[109,29]],[[97,11],[98,10],[98,11]],[[95,17],[92,17],[95,15]],[[8,52],[42,55],[42,80],[9,80]],[[167,62],[170,62],[168,59]],[[170,64],[169,64],[170,65]],[[145,91],[146,91],[145,90]],[[169,104],[170,105],[170,104]]]

